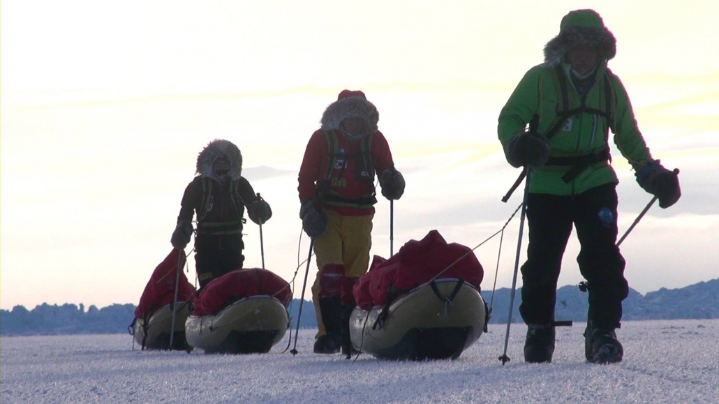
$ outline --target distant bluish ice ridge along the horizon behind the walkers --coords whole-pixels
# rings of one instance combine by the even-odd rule
[[[520,289],[521,290],[521,289]],[[521,323],[519,316],[520,290],[515,295],[512,319]],[[490,323],[506,323],[509,310],[510,290],[498,289],[492,299],[491,290],[482,290],[487,303],[493,302]],[[293,300],[290,317],[296,326],[299,300]],[[557,290],[557,320],[587,321],[587,293],[576,285]],[[28,311],[15,306],[12,311],[0,310],[1,335],[60,335],[60,334],[119,334],[126,333],[134,318],[133,304],[115,304],[98,309],[90,306],[44,303]],[[681,289],[660,289],[641,295],[631,289],[624,300],[623,321],[672,320],[672,319],[719,318],[719,278],[696,283]],[[314,306],[306,301],[302,308],[301,328],[316,329]]]

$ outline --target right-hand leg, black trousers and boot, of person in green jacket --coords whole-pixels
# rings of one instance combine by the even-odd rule
[[[619,362],[623,357],[615,329],[620,326],[629,285],[616,245],[617,204],[616,185],[605,184],[578,196],[574,208],[582,246],[577,263],[589,292],[585,354],[590,362]]]

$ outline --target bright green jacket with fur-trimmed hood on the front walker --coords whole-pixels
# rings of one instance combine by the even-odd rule
[[[541,167],[532,167],[531,193],[567,196],[605,183],[618,183],[606,154],[573,178],[562,178],[572,170],[567,161],[575,161],[572,159],[577,156],[608,153],[610,130],[614,134],[614,144],[634,170],[640,170],[651,161],[626,90],[606,66],[615,55],[615,43],[613,35],[595,12],[569,13],[562,20],[559,35],[544,49],[545,63],[524,75],[502,109],[498,134],[503,146],[524,132],[535,114],[539,115],[537,132],[550,136],[549,161]],[[594,46],[600,52],[601,60],[585,95],[584,108],[580,92],[572,83],[569,65],[564,63],[567,50],[579,44]],[[562,112],[572,110],[571,116],[562,116]],[[554,164],[560,160],[564,162]]]

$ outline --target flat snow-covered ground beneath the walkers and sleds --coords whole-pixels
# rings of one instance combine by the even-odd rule
[[[557,331],[551,364],[522,362],[526,327],[505,325],[455,361],[356,362],[312,353],[205,355],[142,352],[129,335],[0,339],[1,395],[9,403],[718,403],[719,320],[626,321],[626,356],[587,364],[585,324]]]

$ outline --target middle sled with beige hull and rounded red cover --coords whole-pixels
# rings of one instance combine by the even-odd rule
[[[289,327],[290,285],[268,270],[240,269],[209,283],[185,329],[188,343],[206,353],[270,352]]]

